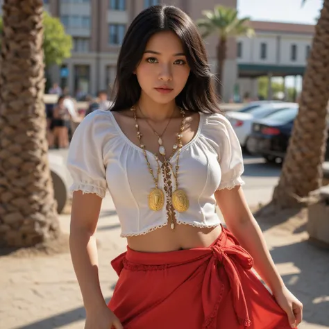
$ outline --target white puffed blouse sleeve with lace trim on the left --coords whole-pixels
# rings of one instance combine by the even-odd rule
[[[73,178],[70,191],[106,196],[106,168],[103,162],[103,141],[97,128],[99,111],[87,115],[76,128],[69,146],[67,168]]]

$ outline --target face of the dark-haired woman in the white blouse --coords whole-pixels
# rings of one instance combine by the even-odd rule
[[[183,90],[189,71],[179,37],[166,31],[150,38],[134,73],[142,88],[142,96],[165,104],[173,101]]]

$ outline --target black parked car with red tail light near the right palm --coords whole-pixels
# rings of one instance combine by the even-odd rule
[[[265,119],[254,121],[248,139],[248,149],[251,153],[262,155],[267,162],[282,162],[297,113],[298,108],[287,108]],[[329,158],[328,142],[329,140],[327,140],[326,158]]]

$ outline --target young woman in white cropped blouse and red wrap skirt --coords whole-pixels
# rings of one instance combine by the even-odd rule
[[[219,112],[192,19],[172,6],[141,12],[124,38],[116,83],[111,111],[88,115],[69,151],[70,246],[85,329],[296,328],[301,302],[246,205],[242,152]],[[119,280],[109,305],[94,239],[107,188],[128,243],[112,261]]]

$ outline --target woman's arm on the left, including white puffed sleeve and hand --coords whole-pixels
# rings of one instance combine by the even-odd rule
[[[101,199],[106,196],[106,167],[103,138],[108,126],[104,113],[90,116],[76,128],[67,155],[67,169],[73,179],[71,233],[69,245],[74,271],[86,309],[85,329],[122,329],[121,323],[104,301],[99,283],[96,226]],[[97,134],[96,134],[97,132]]]

